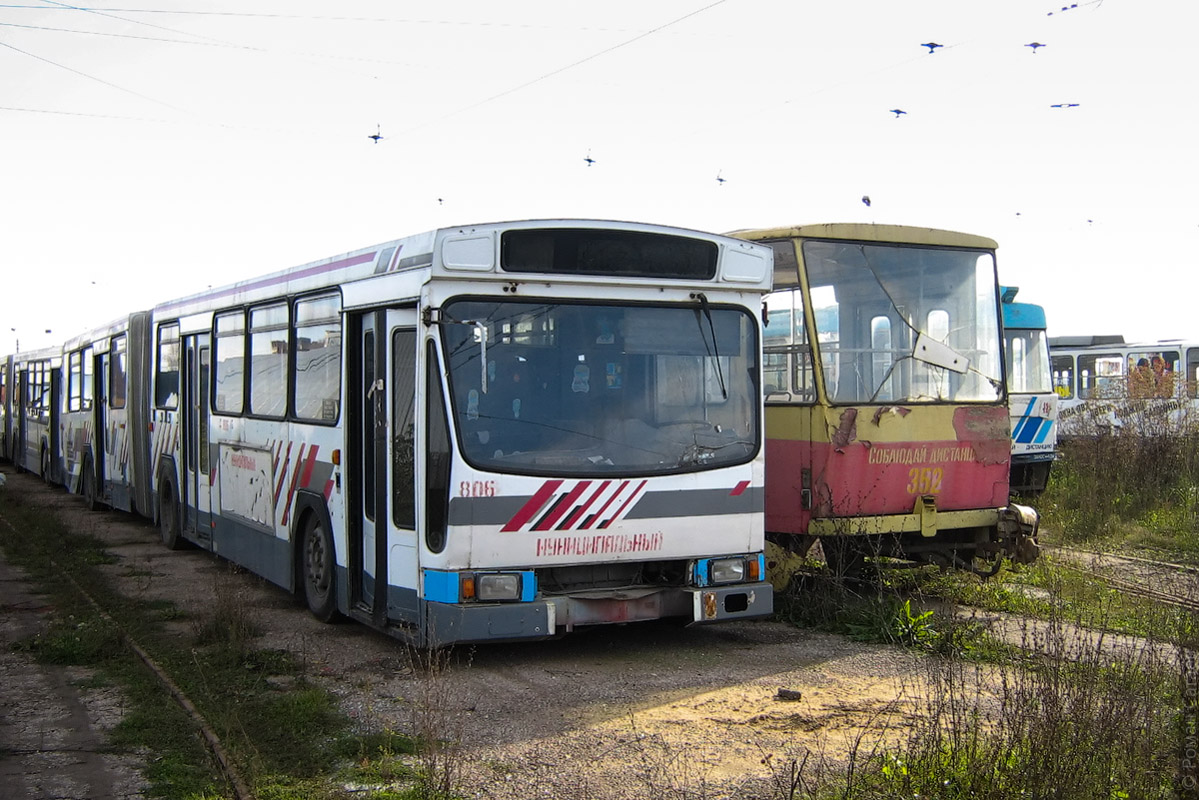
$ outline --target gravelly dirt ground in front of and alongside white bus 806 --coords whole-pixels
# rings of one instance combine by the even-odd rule
[[[424,669],[394,639],[321,625],[224,561],[164,549],[147,523],[89,513],[78,498],[10,477],[8,491],[107,543],[116,558],[102,569],[122,593],[176,603],[180,637],[233,594],[264,632],[258,645],[295,654],[363,729],[410,733],[423,722],[460,738],[477,796],[767,796],[771,764],[805,747],[842,762],[863,730],[896,733],[911,714],[916,656],[772,621],[601,627],[464,648]]]

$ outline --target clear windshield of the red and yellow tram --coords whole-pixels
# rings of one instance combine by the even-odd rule
[[[806,240],[833,403],[989,403],[1002,396],[995,260],[987,251]]]

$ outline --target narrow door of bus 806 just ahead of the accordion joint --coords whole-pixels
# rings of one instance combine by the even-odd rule
[[[209,375],[211,355],[207,343],[197,335],[183,337],[182,447],[183,527],[201,542],[212,537],[212,493],[209,476]]]

